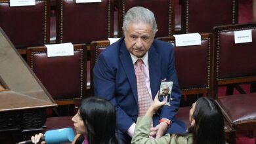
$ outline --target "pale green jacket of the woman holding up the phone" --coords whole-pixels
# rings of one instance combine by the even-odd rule
[[[139,117],[137,119],[136,127],[135,127],[135,135],[131,140],[132,144],[192,144],[192,135],[188,134],[186,136],[177,136],[175,134],[165,134],[159,139],[150,139],[150,123],[152,118],[150,117]]]

